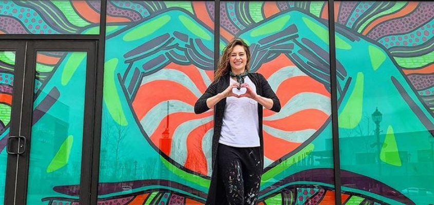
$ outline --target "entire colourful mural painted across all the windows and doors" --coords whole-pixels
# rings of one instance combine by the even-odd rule
[[[434,204],[434,3],[333,6],[339,168],[327,1],[215,8],[213,1],[108,0],[98,204],[204,203],[213,110],[196,115],[193,106],[213,80],[215,52],[234,37],[250,45],[251,72],[268,79],[282,105],[264,111],[259,205],[335,204],[334,169],[342,204]],[[0,34],[99,34],[100,7],[97,0],[0,1]],[[35,54],[28,204],[78,205],[90,55]],[[15,63],[14,52],[0,51],[3,139]],[[6,159],[3,150],[2,174]]]

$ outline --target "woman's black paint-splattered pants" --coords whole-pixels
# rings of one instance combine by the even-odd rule
[[[237,148],[219,144],[217,174],[224,185],[224,192],[220,193],[225,193],[228,205],[257,203],[262,173],[260,159],[259,147]]]

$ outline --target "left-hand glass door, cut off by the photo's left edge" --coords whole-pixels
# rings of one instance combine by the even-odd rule
[[[0,41],[0,201],[5,204],[11,204],[5,199],[14,192],[18,161],[26,150],[20,137],[26,49],[27,42]]]

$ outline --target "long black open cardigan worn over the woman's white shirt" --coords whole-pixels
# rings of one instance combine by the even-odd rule
[[[256,86],[256,93],[262,97],[270,98],[273,100],[273,107],[271,108],[274,112],[280,111],[280,101],[277,98],[274,91],[271,89],[268,81],[260,73],[248,73],[249,78],[253,81]],[[196,114],[203,113],[210,108],[206,106],[206,99],[223,92],[229,86],[229,74],[221,76],[217,83],[211,84],[203,93],[203,95],[196,101],[194,111]],[[222,205],[227,202],[224,193],[217,193],[217,191],[223,191],[224,187],[221,180],[217,180],[217,148],[218,140],[220,138],[221,125],[223,122],[224,107],[226,105],[226,98],[221,99],[215,106],[214,109],[214,134],[213,134],[213,144],[212,144],[212,176],[211,176],[211,186],[208,191],[208,197],[206,199],[205,205]],[[262,105],[258,103],[258,119],[259,119],[259,141],[261,150],[261,167],[263,168],[263,134],[262,134]]]

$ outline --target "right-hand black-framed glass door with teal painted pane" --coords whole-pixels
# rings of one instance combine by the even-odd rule
[[[7,148],[8,162],[16,164],[7,175],[15,177],[6,177],[5,204],[88,204],[96,43],[26,45],[20,126]]]

